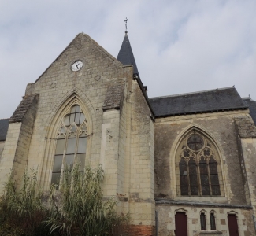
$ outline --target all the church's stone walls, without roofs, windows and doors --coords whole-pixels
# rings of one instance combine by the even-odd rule
[[[83,67],[73,72],[78,60]],[[84,162],[102,164],[104,196],[116,196],[117,211],[131,215],[126,234],[175,235],[176,212],[185,214],[189,236],[229,235],[229,215],[236,216],[239,235],[256,234],[256,128],[250,110],[158,116],[133,66],[121,64],[83,33],[28,84],[6,140],[0,141],[2,182],[10,169],[20,183],[25,169],[34,168],[43,190],[49,190],[59,131],[74,105],[86,117]],[[216,157],[220,194],[181,194],[179,152],[193,131],[208,140]]]

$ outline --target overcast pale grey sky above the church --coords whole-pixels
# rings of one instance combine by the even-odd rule
[[[150,97],[235,85],[256,100],[255,0],[0,0],[0,118],[78,33],[117,57],[125,17]]]

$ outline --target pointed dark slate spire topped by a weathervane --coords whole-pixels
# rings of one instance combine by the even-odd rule
[[[132,46],[129,42],[127,31],[125,31],[124,41],[117,55],[117,60],[123,65],[133,65],[133,73],[139,75],[139,71],[132,53]]]

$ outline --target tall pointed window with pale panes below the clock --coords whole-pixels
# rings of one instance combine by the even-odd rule
[[[58,131],[51,183],[58,184],[65,164],[80,163],[83,171],[87,150],[87,120],[80,105],[73,105]]]

